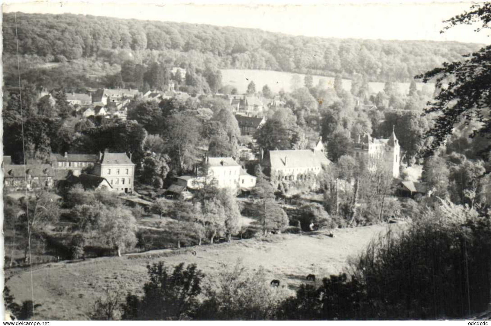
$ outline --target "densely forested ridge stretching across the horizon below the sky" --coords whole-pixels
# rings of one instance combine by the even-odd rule
[[[73,14],[17,14],[21,55],[44,62],[92,58],[118,63],[121,50],[136,63],[152,57],[196,68],[269,69],[371,81],[409,81],[443,61],[476,51],[477,44],[290,36],[263,30],[138,21]],[[3,15],[4,55],[16,54],[13,13]]]

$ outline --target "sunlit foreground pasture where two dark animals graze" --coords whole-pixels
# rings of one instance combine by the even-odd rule
[[[169,266],[181,262],[197,264],[207,277],[213,277],[220,263],[233,267],[238,259],[251,269],[263,266],[269,276],[279,279],[281,285],[294,294],[305,282],[305,275],[323,276],[343,271],[349,257],[356,256],[374,237],[387,228],[399,225],[376,225],[336,231],[334,238],[327,232],[303,235],[276,235],[264,239],[234,240],[181,250],[155,250],[123,257],[103,257],[80,262],[60,262],[33,267],[32,279],[38,320],[87,319],[94,300],[105,296],[105,291],[125,295],[128,291],[140,293],[147,281],[145,266],[164,261]],[[172,255],[163,257],[164,255]],[[161,255],[161,257],[159,257]],[[5,271],[6,282],[17,301],[31,299],[31,279],[28,268]]]

